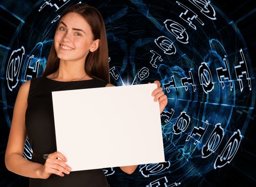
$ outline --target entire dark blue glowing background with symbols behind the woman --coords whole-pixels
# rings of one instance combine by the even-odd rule
[[[168,96],[161,115],[166,162],[140,165],[131,175],[118,167],[105,168],[110,185],[255,185],[253,0],[201,1],[207,6],[196,0],[66,0],[0,1],[0,186],[28,185],[27,178],[8,172],[4,165],[15,97],[24,81],[42,74],[59,14],[80,2],[97,7],[103,15],[111,83],[159,80]],[[186,128],[185,114],[189,116]],[[212,136],[216,124],[223,132],[218,146]],[[178,126],[184,131],[178,133]],[[203,131],[198,142],[199,136],[191,133],[196,129]],[[223,150],[232,137],[240,140],[237,150],[230,150],[234,158],[220,166],[216,160],[222,153],[225,158],[228,151]],[[202,158],[209,139],[208,146],[216,149]],[[26,142],[24,157],[29,159],[31,152]]]

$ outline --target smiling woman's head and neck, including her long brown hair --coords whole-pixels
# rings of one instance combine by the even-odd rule
[[[70,69],[69,66],[75,66],[80,71],[64,77],[67,74],[59,69]],[[63,81],[97,77],[110,82],[108,69],[107,38],[102,16],[88,5],[69,7],[59,19],[43,76]]]

